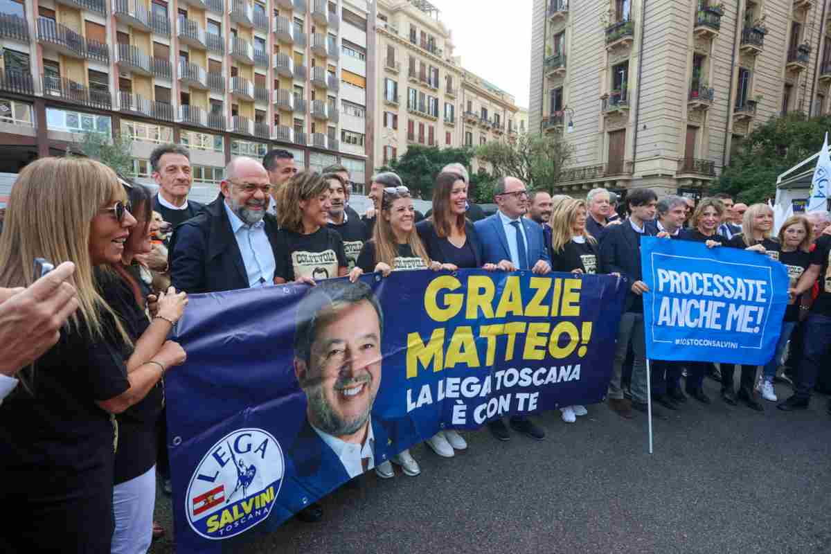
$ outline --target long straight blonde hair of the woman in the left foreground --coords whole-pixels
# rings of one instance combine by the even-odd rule
[[[103,339],[102,316],[108,315],[121,339],[131,344],[96,289],[90,256],[92,219],[102,207],[126,200],[115,172],[93,159],[42,158],[28,164],[12,186],[0,235],[0,287],[28,287],[35,282],[35,257],[56,266],[74,262],[72,284],[79,306],[71,316],[73,330]],[[31,387],[33,371],[26,373],[24,384]]]

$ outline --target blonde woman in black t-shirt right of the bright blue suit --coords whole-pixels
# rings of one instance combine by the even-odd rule
[[[555,204],[548,224],[551,226],[551,271],[597,273],[597,240],[586,231],[588,209],[580,199],[561,199]],[[574,404],[560,408],[563,421],[572,424],[578,415],[588,414],[585,406]]]

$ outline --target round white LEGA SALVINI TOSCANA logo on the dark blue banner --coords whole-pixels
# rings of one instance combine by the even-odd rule
[[[185,512],[202,537],[234,537],[268,517],[285,475],[283,450],[263,429],[238,429],[205,453],[190,478]]]

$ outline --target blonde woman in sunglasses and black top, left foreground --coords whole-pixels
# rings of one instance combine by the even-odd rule
[[[57,345],[0,404],[0,474],[9,552],[109,554],[119,414],[184,361],[174,342],[133,345],[94,268],[116,264],[135,218],[112,169],[42,158],[18,175],[0,236],[0,287],[27,287],[32,260],[74,262],[78,309]],[[151,327],[166,335],[170,323]],[[130,354],[131,353],[131,354]],[[126,360],[126,361],[125,361]],[[18,374],[20,375],[20,374]]]

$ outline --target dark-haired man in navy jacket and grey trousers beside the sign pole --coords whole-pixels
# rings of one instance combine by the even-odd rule
[[[642,281],[641,238],[651,234],[647,222],[655,218],[658,197],[652,189],[635,189],[627,195],[629,218],[607,228],[600,243],[602,272],[625,277],[631,287],[624,302],[617,329],[612,380],[609,382],[609,407],[625,419],[632,418],[632,408],[647,411],[647,345],[643,328],[643,293],[649,292]],[[622,371],[627,350],[632,344],[632,402],[623,398]],[[652,414],[661,417],[652,409]]]

